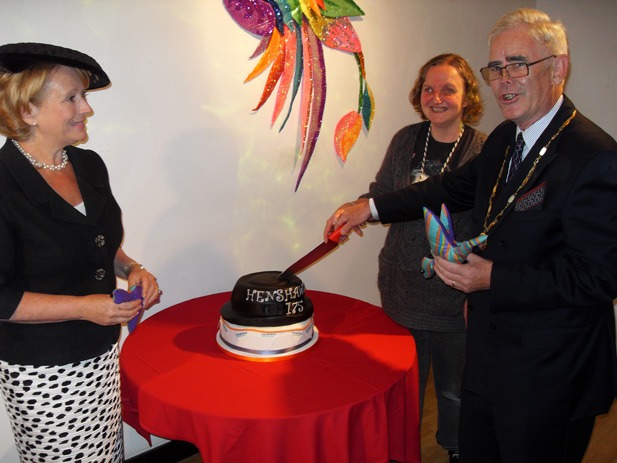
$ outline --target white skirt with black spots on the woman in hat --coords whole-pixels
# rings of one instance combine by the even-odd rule
[[[0,389],[21,463],[121,463],[117,344],[69,365],[0,360]]]

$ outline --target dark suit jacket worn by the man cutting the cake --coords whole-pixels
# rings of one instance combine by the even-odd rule
[[[617,143],[577,113],[506,202],[574,109],[565,98],[523,168],[498,187],[487,223],[505,208],[502,219],[476,251],[493,270],[490,289],[469,296],[463,387],[514,421],[602,414],[617,391]],[[375,198],[380,219],[418,218],[445,201],[451,211],[473,207],[480,233],[515,130],[506,121],[461,169]]]

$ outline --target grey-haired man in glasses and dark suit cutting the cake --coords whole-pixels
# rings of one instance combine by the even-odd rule
[[[488,235],[435,271],[467,294],[463,463],[572,463],[617,392],[617,143],[563,94],[563,26],[519,9],[497,22],[481,70],[504,117],[449,174],[338,209],[325,232],[473,208]],[[516,142],[518,134],[523,142]],[[518,159],[517,159],[518,158]],[[420,263],[418,263],[420,264]]]

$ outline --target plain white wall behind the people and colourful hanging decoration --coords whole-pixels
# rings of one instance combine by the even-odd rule
[[[91,54],[113,85],[93,92],[87,147],[99,152],[124,211],[125,249],[164,290],[150,315],[180,301],[231,290],[246,273],[283,269],[321,240],[326,218],[366,191],[392,135],[417,118],[407,94],[417,69],[457,52],[475,70],[498,16],[536,3],[569,29],[568,95],[617,136],[617,6],[611,0],[357,0],[354,21],[376,99],[373,127],[342,166],[334,126],[357,101],[351,55],[325,50],[328,94],[321,137],[297,193],[297,103],[283,132],[269,128],[273,99],[252,113],[265,75],[243,84],[257,39],[219,0],[2,0],[0,43],[51,42]],[[488,88],[480,128],[500,120]],[[3,140],[0,140],[3,142]],[[370,226],[301,274],[310,289],[379,303],[377,254],[385,229]],[[214,342],[214,340],[213,340]],[[0,412],[0,461],[17,461]],[[155,441],[157,444],[160,439]],[[147,443],[126,428],[127,457]]]

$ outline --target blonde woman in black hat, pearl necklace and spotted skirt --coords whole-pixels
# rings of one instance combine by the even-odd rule
[[[22,462],[123,461],[120,325],[159,300],[87,138],[91,57],[0,46],[0,389]],[[143,299],[115,304],[116,277]]]

